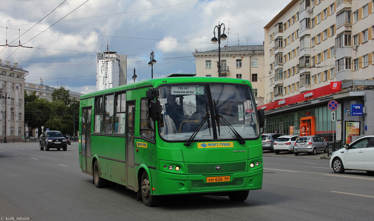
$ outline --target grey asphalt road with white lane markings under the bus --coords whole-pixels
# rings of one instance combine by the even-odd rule
[[[268,156],[269,155],[269,156]],[[282,156],[283,155],[283,156]],[[374,177],[335,174],[328,160],[264,152],[262,190],[228,197],[166,197],[148,208],[125,187],[95,188],[79,168],[78,144],[40,151],[0,144],[0,219],[30,220],[373,220]],[[292,157],[293,156],[293,157]],[[313,156],[314,157],[314,156]]]

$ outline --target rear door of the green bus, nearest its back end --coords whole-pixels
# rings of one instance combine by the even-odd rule
[[[91,115],[92,107],[82,108],[82,128],[81,131],[81,144],[82,144],[82,170],[91,174]]]

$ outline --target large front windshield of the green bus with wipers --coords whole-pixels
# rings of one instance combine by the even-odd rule
[[[159,88],[160,136],[170,141],[258,138],[260,128],[247,85],[183,84]],[[195,134],[194,134],[195,135]]]

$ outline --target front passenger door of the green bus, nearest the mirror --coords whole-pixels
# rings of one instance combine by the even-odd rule
[[[126,185],[135,189],[135,145],[134,145],[134,129],[135,126],[135,102],[126,103]]]

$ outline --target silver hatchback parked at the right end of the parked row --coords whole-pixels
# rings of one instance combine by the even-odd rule
[[[298,156],[299,153],[309,153],[315,155],[317,151],[324,151],[327,153],[328,144],[319,136],[300,136],[296,139],[294,144],[294,154]]]

